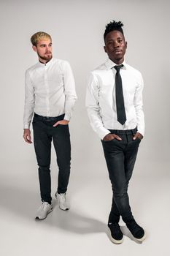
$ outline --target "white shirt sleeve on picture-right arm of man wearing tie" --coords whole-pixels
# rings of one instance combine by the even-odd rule
[[[144,88],[144,81],[143,81],[142,75],[139,73],[139,80],[138,80],[135,95],[134,95],[134,108],[136,110],[138,132],[144,136],[144,111],[143,111],[143,100],[142,100],[143,88]]]

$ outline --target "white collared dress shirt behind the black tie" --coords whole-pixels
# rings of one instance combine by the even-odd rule
[[[142,110],[143,79],[141,73],[123,61],[120,75],[123,83],[125,124],[117,121],[115,99],[116,64],[110,59],[90,72],[86,94],[86,107],[90,124],[103,139],[108,129],[134,129],[144,135],[144,113]]]

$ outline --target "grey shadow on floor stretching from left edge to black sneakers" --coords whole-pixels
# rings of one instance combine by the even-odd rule
[[[28,191],[21,187],[12,187],[0,184],[0,208],[21,217],[34,221],[37,225],[49,225],[71,233],[107,233],[107,225],[97,219],[86,217],[81,214],[81,206],[76,212],[72,207],[69,211],[58,208],[56,200],[53,200],[53,211],[42,221],[34,220],[39,197],[35,191]],[[12,217],[15,220],[15,217]]]

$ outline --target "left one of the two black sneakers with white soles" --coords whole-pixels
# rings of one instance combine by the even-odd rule
[[[117,223],[108,224],[110,231],[110,240],[115,244],[121,244],[123,242],[123,233],[120,230],[120,225]]]

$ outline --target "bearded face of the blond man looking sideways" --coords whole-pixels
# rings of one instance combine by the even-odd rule
[[[52,59],[52,42],[50,38],[39,39],[36,46],[33,46],[33,50],[39,56],[39,60],[46,63]]]

